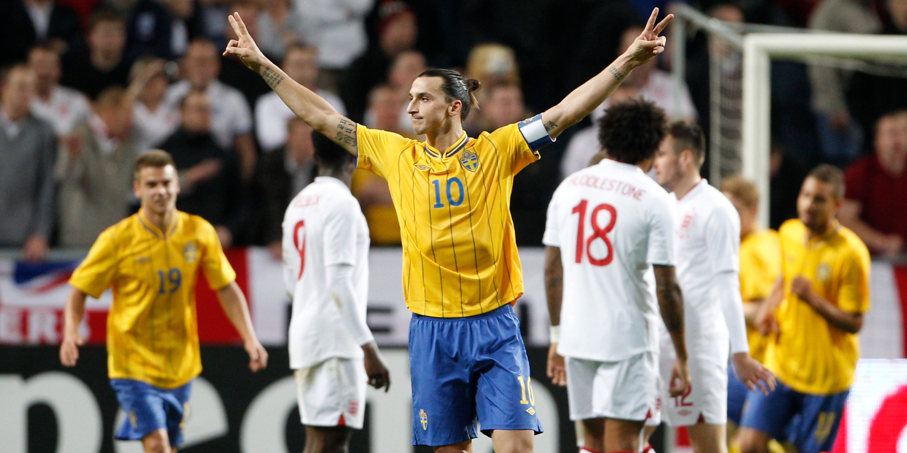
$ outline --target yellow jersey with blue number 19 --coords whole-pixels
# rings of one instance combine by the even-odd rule
[[[104,230],[70,284],[93,297],[112,288],[107,371],[174,389],[201,372],[195,314],[198,269],[212,289],[236,279],[206,220],[178,212],[164,234],[142,211]]]

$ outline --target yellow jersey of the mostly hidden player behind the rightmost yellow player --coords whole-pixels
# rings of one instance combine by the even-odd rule
[[[744,304],[768,297],[781,275],[781,239],[778,232],[766,229],[751,233],[740,241],[740,296]],[[766,337],[746,325],[749,354],[757,361],[764,361]]]

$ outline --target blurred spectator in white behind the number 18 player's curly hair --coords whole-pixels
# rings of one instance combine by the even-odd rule
[[[617,49],[623,52],[642,33],[642,28],[631,26],[620,36]],[[620,84],[610,97],[592,111],[591,120],[596,121],[604,116],[608,107],[615,102],[642,98],[652,101],[664,109],[668,120],[694,121],[697,117],[696,107],[686,84],[679,84],[669,72],[658,69],[654,64],[644,64],[634,69],[627,79]],[[600,150],[598,128],[590,126],[577,131],[567,144],[567,150],[561,159],[561,179],[567,178],[574,171],[585,169],[589,159]]]

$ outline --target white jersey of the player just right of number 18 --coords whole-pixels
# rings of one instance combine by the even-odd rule
[[[677,213],[677,275],[688,351],[727,355],[727,322],[712,277],[739,272],[740,216],[706,179],[678,199]]]

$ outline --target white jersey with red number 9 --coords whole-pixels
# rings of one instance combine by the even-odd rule
[[[368,225],[359,202],[336,178],[317,177],[293,198],[283,222],[284,280],[293,295],[290,368],[331,357],[363,357],[327,288],[327,266],[353,265],[357,313],[366,318]]]

